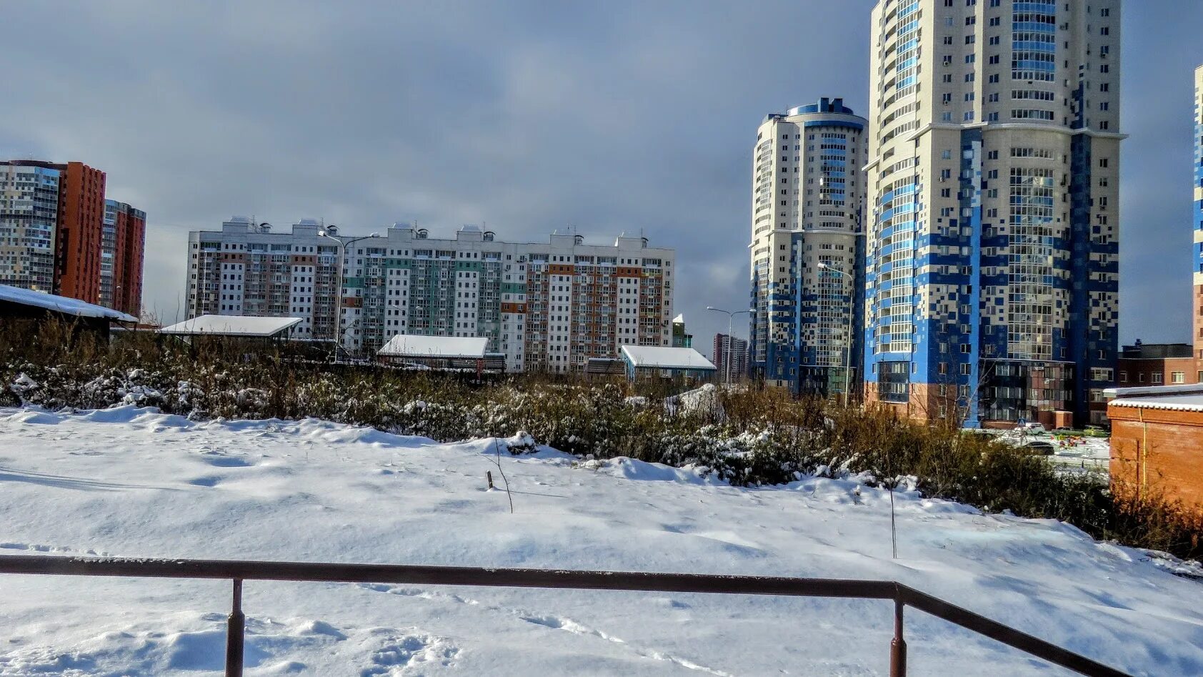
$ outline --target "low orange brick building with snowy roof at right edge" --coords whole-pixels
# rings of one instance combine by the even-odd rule
[[[1112,422],[1112,490],[1203,510],[1203,385],[1120,388]]]

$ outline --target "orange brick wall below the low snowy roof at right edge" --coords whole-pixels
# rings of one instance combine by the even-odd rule
[[[1112,490],[1203,510],[1203,412],[1108,407]]]

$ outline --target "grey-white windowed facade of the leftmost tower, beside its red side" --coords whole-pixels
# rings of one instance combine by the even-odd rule
[[[0,284],[54,292],[59,170],[0,163]]]

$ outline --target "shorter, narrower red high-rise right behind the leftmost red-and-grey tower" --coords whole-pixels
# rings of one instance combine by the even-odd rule
[[[137,317],[142,311],[142,254],[147,214],[105,200],[100,242],[100,305]]]

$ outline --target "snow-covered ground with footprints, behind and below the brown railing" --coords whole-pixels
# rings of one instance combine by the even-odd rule
[[[1136,675],[1203,673],[1203,584],[1053,522],[854,479],[740,489],[319,420],[0,408],[0,552],[897,579]],[[0,675],[201,676],[229,583],[0,576]],[[247,584],[248,675],[885,675],[889,602]],[[909,611],[912,675],[1062,675]]]

